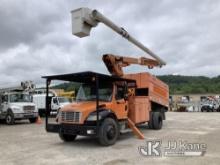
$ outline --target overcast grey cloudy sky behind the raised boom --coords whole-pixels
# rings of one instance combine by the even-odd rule
[[[103,24],[90,37],[73,36],[70,11],[79,7],[98,9],[167,62],[161,69],[132,66],[126,72],[220,75],[219,0],[0,0],[0,85],[108,73],[105,53],[145,56]]]

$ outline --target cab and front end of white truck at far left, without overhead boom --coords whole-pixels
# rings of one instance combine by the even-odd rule
[[[14,124],[15,120],[29,119],[36,122],[38,109],[32,103],[31,95],[25,92],[5,92],[0,94],[0,119],[7,124]]]

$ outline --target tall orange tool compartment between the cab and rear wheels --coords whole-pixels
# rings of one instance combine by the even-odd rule
[[[128,117],[135,123],[144,123],[149,121],[149,97],[132,96],[128,100]]]

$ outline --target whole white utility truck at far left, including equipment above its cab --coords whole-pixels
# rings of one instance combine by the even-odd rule
[[[37,121],[38,109],[32,102],[31,92],[35,85],[31,81],[21,82],[21,85],[0,89],[0,119],[12,125],[16,120],[29,119]]]

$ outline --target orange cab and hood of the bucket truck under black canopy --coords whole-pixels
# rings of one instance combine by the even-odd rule
[[[127,119],[128,101],[125,93],[126,88],[120,86],[120,83],[109,82],[100,84],[99,93],[99,119],[104,118],[103,115],[111,113],[118,120]],[[96,116],[96,86],[94,84],[83,83],[76,96],[76,102],[68,104],[61,108],[59,123],[94,123]],[[80,118],[69,119],[72,113],[79,114]]]

